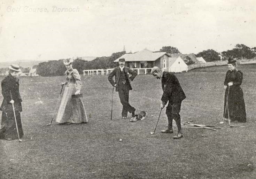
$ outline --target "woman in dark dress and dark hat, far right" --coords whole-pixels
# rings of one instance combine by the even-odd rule
[[[236,61],[230,60],[228,63],[228,71],[224,81],[225,98],[223,117],[231,119],[233,122],[246,122],[245,100],[243,99],[243,91],[240,87],[243,79],[243,73],[236,70]],[[227,106],[226,106],[227,102]]]

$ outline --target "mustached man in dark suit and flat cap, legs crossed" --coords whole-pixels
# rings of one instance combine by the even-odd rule
[[[132,107],[129,103],[129,91],[132,90],[132,86],[130,81],[132,81],[136,76],[137,72],[131,70],[128,67],[124,66],[125,59],[119,59],[119,67],[116,67],[108,76],[108,80],[113,87],[116,87],[116,91],[118,91],[118,95],[120,98],[120,102],[123,105],[122,110],[122,118],[127,118],[127,113],[132,113],[132,117],[135,115],[135,108]],[[129,77],[131,74],[131,77]],[[115,82],[113,77],[115,76]]]

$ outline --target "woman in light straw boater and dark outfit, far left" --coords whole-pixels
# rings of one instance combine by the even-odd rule
[[[18,139],[15,116],[19,136],[20,138],[23,136],[21,123],[22,99],[19,91],[20,84],[18,78],[21,74],[21,69],[15,64],[10,65],[8,68],[9,74],[1,82],[3,102],[0,107],[0,110],[2,111],[0,138],[13,140]]]

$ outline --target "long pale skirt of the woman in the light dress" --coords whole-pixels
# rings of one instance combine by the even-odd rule
[[[71,98],[75,94],[75,86],[66,86],[61,100],[60,108],[56,117],[57,123],[87,123],[88,119],[84,103],[80,98]]]

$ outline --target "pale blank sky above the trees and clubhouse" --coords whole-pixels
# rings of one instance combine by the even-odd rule
[[[256,46],[255,0],[2,0],[0,62]]]

